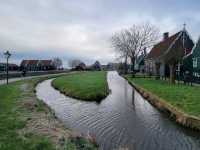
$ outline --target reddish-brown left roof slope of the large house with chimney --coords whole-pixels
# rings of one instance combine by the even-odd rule
[[[170,47],[170,45],[174,42],[174,40],[176,40],[176,38],[179,36],[180,32],[177,32],[176,34],[170,36],[166,40],[163,40],[159,42],[158,44],[154,45],[154,47],[151,49],[150,53],[147,55],[146,58],[147,59],[156,58],[164,54],[164,52]]]

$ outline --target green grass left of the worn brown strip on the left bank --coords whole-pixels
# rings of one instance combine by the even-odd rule
[[[0,149],[53,149],[45,137],[27,135],[22,139],[19,136],[17,131],[26,126],[26,120],[20,116],[22,110],[18,107],[21,97],[20,82],[0,86]]]

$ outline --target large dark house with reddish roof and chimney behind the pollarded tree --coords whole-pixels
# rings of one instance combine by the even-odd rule
[[[183,58],[191,53],[194,42],[184,28],[180,32],[169,36],[166,32],[163,34],[163,40],[154,45],[150,53],[145,58],[145,71],[149,74],[159,76],[169,76],[169,63],[174,58],[179,58],[176,62],[176,71],[181,72],[183,68]]]

